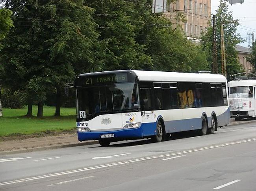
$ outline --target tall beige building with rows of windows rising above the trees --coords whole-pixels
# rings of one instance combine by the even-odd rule
[[[186,22],[176,20],[176,16],[182,13]],[[187,37],[200,39],[200,34],[210,24],[211,0],[178,0],[167,4],[164,15],[173,21],[174,27],[182,26]]]

